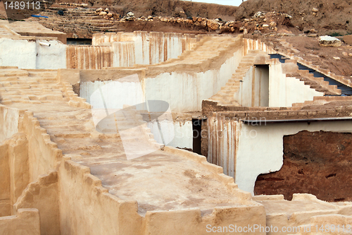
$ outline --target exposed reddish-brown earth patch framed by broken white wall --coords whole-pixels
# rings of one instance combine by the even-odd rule
[[[301,131],[284,136],[282,169],[258,176],[255,195],[311,193],[320,200],[352,200],[352,134]]]

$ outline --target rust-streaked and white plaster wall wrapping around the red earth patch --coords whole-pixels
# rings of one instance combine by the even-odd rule
[[[236,119],[208,121],[208,161],[215,161],[232,176],[239,188],[253,194],[259,174],[279,171],[283,163],[283,137],[299,131],[352,132],[351,121],[277,123],[251,126]],[[232,173],[234,169],[234,173]]]

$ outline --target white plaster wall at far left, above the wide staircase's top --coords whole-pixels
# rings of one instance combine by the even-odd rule
[[[50,47],[40,45],[46,42]],[[30,39],[12,40],[0,38],[0,66],[18,66],[18,68],[65,68],[65,44],[56,40]]]

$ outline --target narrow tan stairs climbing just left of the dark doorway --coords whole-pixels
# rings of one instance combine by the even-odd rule
[[[218,102],[218,104],[221,105],[240,106],[239,103],[234,100],[234,93],[239,90],[244,75],[249,68],[253,66],[258,55],[265,55],[265,52],[260,50],[249,50],[248,54],[241,59],[238,68],[227,81],[226,85],[223,86],[218,93],[210,97],[209,100]]]

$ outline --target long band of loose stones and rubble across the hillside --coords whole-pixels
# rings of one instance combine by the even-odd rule
[[[61,4],[64,5],[64,4]],[[66,32],[68,37],[89,38],[96,32],[119,32],[121,28],[127,26],[123,23],[134,22],[135,25],[141,25],[143,22],[153,22],[153,25],[165,25],[172,28],[188,28],[189,30],[196,30],[199,32],[208,33],[244,33],[253,35],[264,35],[270,33],[277,33],[278,26],[291,25],[291,16],[286,13],[279,12],[262,12],[258,11],[251,18],[244,18],[240,21],[227,21],[222,18],[203,18],[196,16],[184,17],[165,17],[165,16],[136,16],[133,12],[125,13],[121,16],[114,12],[113,8],[84,8],[78,7],[82,4],[68,4],[69,6],[76,6],[76,8],[47,8],[43,9],[42,16],[49,18],[32,20],[39,20],[42,25],[53,30]],[[58,10],[62,14],[58,14]],[[183,11],[180,10],[180,15]],[[182,15],[182,16],[183,16]],[[144,24],[144,23],[143,23]],[[70,27],[68,27],[70,25]],[[145,25],[145,24],[144,24]],[[131,25],[128,27],[130,28]],[[158,26],[153,26],[158,27]],[[139,28],[138,28],[139,30]],[[280,35],[281,36],[281,35]]]

